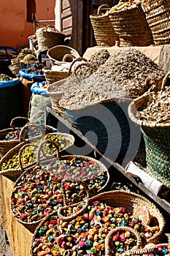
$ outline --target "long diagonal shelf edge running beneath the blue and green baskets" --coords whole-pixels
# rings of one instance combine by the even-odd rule
[[[50,115],[49,115],[50,114]],[[86,150],[91,151],[91,154],[93,154],[94,157],[97,157],[100,159],[101,162],[106,165],[106,167],[114,167],[116,170],[118,170],[119,173],[121,173],[125,179],[128,179],[128,181],[131,181],[132,184],[134,184],[135,187],[137,187],[140,191],[144,192],[144,195],[149,197],[154,201],[155,204],[158,206],[161,206],[163,211],[166,211],[166,214],[170,215],[170,202],[169,202],[169,191],[161,191],[156,195],[152,189],[145,186],[145,184],[142,182],[140,178],[136,178],[129,173],[126,173],[126,170],[124,167],[122,167],[119,163],[113,162],[112,159],[109,159],[108,157],[105,157],[101,154],[98,149],[93,146],[83,135],[81,132],[79,132],[76,128],[74,128],[68,120],[63,118],[60,114],[53,111],[51,108],[45,106],[45,122],[48,124],[49,122],[49,116],[53,119],[53,125],[55,125],[55,128],[59,129],[60,132],[69,132],[72,133],[76,138],[82,141],[82,143],[85,143]],[[75,140],[76,141],[76,140]],[[80,142],[79,142],[80,143]],[[80,145],[80,144],[79,144]],[[74,150],[74,147],[73,147]],[[72,152],[72,154],[75,154],[74,151],[72,151],[72,147],[69,148],[69,152]],[[81,148],[79,151],[79,154],[81,154]],[[166,198],[167,195],[167,198]],[[169,216],[170,217],[170,216]]]

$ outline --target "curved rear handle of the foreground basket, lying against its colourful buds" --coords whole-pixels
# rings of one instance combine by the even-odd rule
[[[83,207],[82,207],[79,211],[77,211],[75,214],[72,214],[72,216],[68,216],[68,217],[64,217],[64,216],[61,214],[61,211],[68,209],[68,206],[59,207],[59,208],[58,208],[58,218],[62,219],[64,222],[69,222],[69,221],[71,221],[72,219],[75,219],[77,216],[79,216],[80,214],[82,214],[82,213],[88,208],[89,202],[90,202],[90,199],[89,199],[89,198],[86,198],[86,199],[85,199],[85,206],[83,206]],[[71,206],[77,206],[77,204],[72,204]]]

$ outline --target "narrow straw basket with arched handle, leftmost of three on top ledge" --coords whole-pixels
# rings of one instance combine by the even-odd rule
[[[98,7],[97,15],[90,15],[90,22],[94,31],[96,44],[101,47],[113,46],[115,41],[119,41],[118,35],[109,20],[108,12],[101,14],[102,9],[107,8],[109,5],[103,4]]]

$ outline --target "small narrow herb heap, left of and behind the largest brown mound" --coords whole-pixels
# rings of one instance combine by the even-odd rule
[[[90,56],[90,59],[80,64],[74,71],[74,75],[90,75],[95,72],[98,67],[104,64],[109,58],[109,52],[107,49],[98,50],[98,52],[94,53]]]

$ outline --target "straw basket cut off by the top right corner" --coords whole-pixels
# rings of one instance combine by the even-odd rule
[[[146,15],[147,23],[152,31],[155,45],[169,44],[170,42],[170,2],[142,1],[142,8]]]

